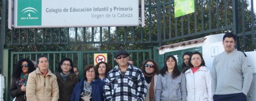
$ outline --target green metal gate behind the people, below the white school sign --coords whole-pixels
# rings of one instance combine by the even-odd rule
[[[130,54],[130,58],[133,59],[134,65],[137,67],[141,67],[141,64],[147,60],[152,59],[152,53],[151,50],[127,50]],[[61,61],[64,57],[69,57],[73,60],[73,63],[76,65],[76,67],[79,70],[79,78],[83,77],[83,67],[85,67],[87,64],[94,64],[94,53],[107,53],[108,54],[108,64],[110,64],[112,67],[115,67],[117,65],[116,62],[114,62],[114,54],[117,51],[46,51],[46,52],[10,52],[11,54],[7,57],[10,57],[10,66],[9,71],[6,76],[6,89],[5,89],[5,101],[10,101],[10,94],[9,89],[11,86],[11,80],[12,80],[12,73],[16,69],[17,61],[19,61],[22,58],[29,58],[30,60],[36,61],[37,57],[39,57],[41,54],[44,54],[48,57],[49,60],[49,69],[56,73],[58,70],[58,64],[59,61]],[[8,99],[8,100],[7,100]]]

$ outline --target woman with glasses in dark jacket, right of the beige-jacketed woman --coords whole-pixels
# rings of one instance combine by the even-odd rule
[[[72,91],[78,83],[78,77],[73,70],[73,62],[70,58],[63,58],[56,73],[59,86],[59,101],[70,101]]]

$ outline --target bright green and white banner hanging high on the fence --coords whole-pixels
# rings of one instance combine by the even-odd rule
[[[195,0],[174,0],[174,17],[195,12]]]

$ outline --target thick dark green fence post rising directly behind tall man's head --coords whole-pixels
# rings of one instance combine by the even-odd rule
[[[238,2],[237,0],[232,0],[232,10],[233,10],[233,24],[234,24],[234,30],[233,34],[237,35],[239,32],[238,29]],[[239,37],[236,37],[236,48],[239,51],[240,45],[239,45]]]

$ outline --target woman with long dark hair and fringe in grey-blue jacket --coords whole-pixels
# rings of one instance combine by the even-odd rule
[[[155,88],[155,101],[186,101],[186,78],[173,55],[166,57]]]

